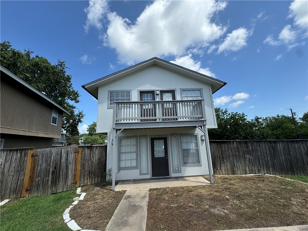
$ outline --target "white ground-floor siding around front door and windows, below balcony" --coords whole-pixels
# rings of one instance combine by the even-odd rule
[[[180,172],[173,172],[172,169],[172,152],[171,152],[171,134],[196,134],[198,139],[198,147],[200,152],[200,160],[201,165],[199,166],[183,166],[182,164],[182,152],[181,146],[179,148],[179,157],[180,157]],[[196,176],[196,175],[208,175],[209,174],[209,167],[207,161],[207,153],[206,153],[206,140],[201,140],[201,136],[204,135],[199,129],[195,128],[176,128],[176,129],[144,129],[144,130],[124,130],[120,132],[120,134],[116,137],[117,145],[119,143],[119,138],[121,137],[129,137],[129,136],[137,136],[139,140],[140,146],[140,137],[147,138],[147,165],[148,165],[148,173],[147,174],[140,174],[140,152],[137,156],[138,161],[138,169],[132,170],[123,170],[115,176],[115,180],[129,180],[129,179],[147,179],[152,178],[152,160],[151,160],[151,137],[155,136],[162,136],[167,137],[167,146],[168,146],[168,165],[169,165],[169,176],[170,177],[178,177],[178,176]],[[179,138],[178,136],[178,138]],[[112,167],[112,151],[115,145],[112,145],[112,139],[114,138],[113,132],[108,132],[108,144],[107,144],[107,169]],[[140,147],[138,147],[140,148]],[[118,155],[118,154],[117,154]],[[212,164],[211,164],[212,166]],[[118,169],[118,160],[116,159],[116,169]]]

